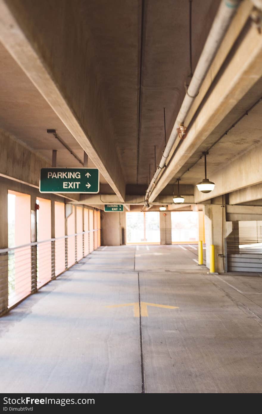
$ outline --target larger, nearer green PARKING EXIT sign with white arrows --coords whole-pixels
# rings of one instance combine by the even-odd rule
[[[99,192],[97,168],[41,168],[40,193],[89,193]]]

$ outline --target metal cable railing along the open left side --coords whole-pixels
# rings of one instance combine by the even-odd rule
[[[82,231],[0,249],[0,315],[91,253],[94,235],[99,234],[100,241],[100,232]]]

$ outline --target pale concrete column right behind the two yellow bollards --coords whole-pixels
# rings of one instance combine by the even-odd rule
[[[225,207],[221,204],[210,204],[204,206],[205,241],[206,241],[206,261],[210,268],[210,245],[215,246],[215,270],[224,272],[225,258],[225,237],[226,237],[226,214]]]

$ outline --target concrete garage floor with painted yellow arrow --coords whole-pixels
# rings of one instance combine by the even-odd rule
[[[1,392],[260,393],[262,278],[183,247],[101,247],[11,310]]]

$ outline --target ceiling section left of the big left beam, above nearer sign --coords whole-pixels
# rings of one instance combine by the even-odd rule
[[[0,126],[3,130],[24,142],[50,164],[52,150],[56,149],[57,166],[82,167],[52,134],[47,134],[48,128],[55,129],[83,161],[84,152],[81,146],[1,43],[0,90]],[[88,166],[95,167],[91,159]],[[101,175],[100,181],[106,183]]]

